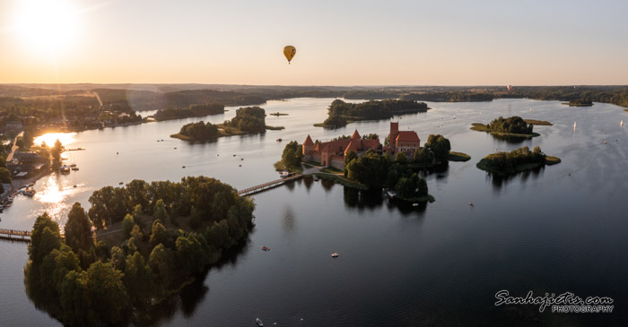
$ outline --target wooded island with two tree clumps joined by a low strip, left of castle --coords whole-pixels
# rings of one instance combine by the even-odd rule
[[[225,120],[222,124],[211,124],[203,121],[183,125],[179,133],[170,137],[185,140],[206,142],[221,136],[265,133],[266,130],[280,130],[283,126],[266,125],[266,112],[259,107],[246,107],[236,110],[236,116]]]

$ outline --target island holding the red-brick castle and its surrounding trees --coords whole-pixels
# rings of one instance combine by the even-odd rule
[[[465,153],[452,152],[449,140],[442,135],[431,134],[422,147],[416,132],[400,131],[399,123],[391,122],[383,144],[378,134],[361,136],[357,130],[328,142],[313,141],[310,135],[301,144],[289,142],[275,169],[301,173],[307,168],[308,174],[348,187],[383,188],[391,198],[433,202],[421,171],[447,165],[449,160],[468,159],[471,157]]]

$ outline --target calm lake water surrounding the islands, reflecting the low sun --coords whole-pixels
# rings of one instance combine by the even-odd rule
[[[134,178],[205,175],[236,188],[257,185],[276,179],[272,164],[285,141],[302,142],[308,133],[324,141],[355,128],[382,139],[388,133],[388,121],[336,131],[313,127],[325,119],[332,100],[271,101],[262,106],[266,112],[289,116],[267,116],[267,124],[286,129],[217,142],[190,144],[169,135],[190,122],[230,119],[235,108],[218,116],[71,135],[66,147],[87,149],[65,152],[80,170],[40,179],[33,199],[18,197],[0,215],[0,228],[31,229],[43,211],[63,225],[72,203],[89,207],[92,191]],[[619,125],[628,115],[623,109],[525,99],[429,106],[428,113],[395,120],[401,129],[417,131],[422,142],[441,133],[453,151],[472,156],[425,176],[436,202],[412,207],[310,178],[257,194],[249,242],[205,280],[154,310],[152,323],[242,326],[260,317],[267,325],[283,326],[628,324],[628,137]],[[471,123],[514,115],[554,125],[536,126],[541,136],[523,142],[468,129]],[[563,162],[508,179],[475,168],[495,149],[523,145],[540,145]],[[261,251],[263,245],[272,250]],[[2,241],[0,251],[0,325],[58,324],[25,295],[27,246]],[[332,259],[333,252],[340,257]],[[538,314],[535,305],[495,307],[494,294],[501,289],[515,296],[534,290],[613,297],[615,310]]]

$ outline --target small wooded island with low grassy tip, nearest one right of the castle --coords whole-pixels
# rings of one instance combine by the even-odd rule
[[[533,151],[524,146],[510,152],[489,154],[481,159],[476,164],[476,167],[497,175],[512,175],[545,165],[555,165],[560,162],[561,159],[545,155],[538,146]]]

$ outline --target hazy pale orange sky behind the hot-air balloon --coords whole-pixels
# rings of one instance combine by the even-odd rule
[[[628,1],[0,0],[0,82],[628,84],[626,13]]]

